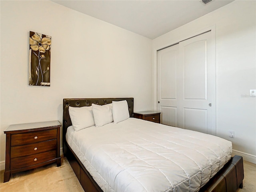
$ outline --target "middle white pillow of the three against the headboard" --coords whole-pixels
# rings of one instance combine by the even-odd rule
[[[106,105],[92,104],[92,112],[96,127],[113,122],[112,103]]]

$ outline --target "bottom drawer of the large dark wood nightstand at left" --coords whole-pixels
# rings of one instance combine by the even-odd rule
[[[56,150],[11,159],[11,170],[27,167],[56,158]]]

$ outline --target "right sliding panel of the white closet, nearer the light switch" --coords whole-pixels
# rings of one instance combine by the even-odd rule
[[[216,64],[211,32],[180,42],[181,128],[216,134]]]

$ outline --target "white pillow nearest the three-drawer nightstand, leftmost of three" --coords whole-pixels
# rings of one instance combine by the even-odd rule
[[[75,131],[95,125],[92,114],[92,106],[69,107],[68,111]]]

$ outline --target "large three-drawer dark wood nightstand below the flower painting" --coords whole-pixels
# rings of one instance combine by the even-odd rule
[[[4,182],[11,174],[53,162],[60,166],[60,122],[10,125],[6,134]]]

